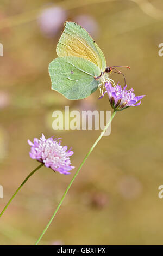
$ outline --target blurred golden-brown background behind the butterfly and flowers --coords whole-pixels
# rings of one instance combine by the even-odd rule
[[[52,216],[97,130],[54,131],[55,110],[111,110],[99,91],[71,102],[51,90],[48,64],[55,57],[64,21],[76,21],[101,47],[108,66],[123,69],[127,85],[142,104],[118,113],[87,159],[42,245],[162,244],[163,3],[150,1],[1,1],[0,184],[3,209],[38,163],[27,139],[61,136],[73,147],[71,175],[41,168],[30,178],[1,218],[0,245],[33,245]],[[120,75],[112,75],[124,82]]]

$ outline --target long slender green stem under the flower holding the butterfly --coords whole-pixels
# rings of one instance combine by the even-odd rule
[[[46,231],[47,231],[49,225],[51,225],[51,223],[52,223],[52,221],[53,221],[53,219],[54,219],[56,213],[58,212],[58,210],[59,210],[61,204],[63,203],[63,201],[64,201],[64,199],[65,199],[65,197],[66,197],[66,194],[67,194],[68,190],[70,189],[72,183],[74,182],[74,179],[77,177],[77,175],[78,175],[80,169],[82,168],[83,164],[85,163],[87,157],[89,157],[89,155],[90,155],[90,153],[92,152],[93,148],[96,147],[98,141],[102,138],[102,136],[104,135],[104,133],[105,133],[106,130],[108,129],[108,127],[109,127],[109,125],[110,125],[112,119],[114,118],[115,114],[116,114],[116,111],[114,111],[114,112],[112,113],[111,118],[110,118],[109,122],[106,124],[106,126],[105,126],[104,130],[102,131],[101,135],[99,135],[98,139],[95,141],[95,143],[94,143],[93,146],[91,147],[90,151],[86,154],[85,158],[83,159],[82,164],[80,164],[78,170],[76,171],[76,174],[74,174],[72,180],[71,180],[70,183],[68,184],[68,187],[67,187],[67,189],[66,189],[64,195],[62,196],[62,198],[61,198],[61,200],[60,200],[60,202],[59,202],[59,204],[58,204],[58,206],[57,206],[57,209],[55,210],[55,212],[54,212],[52,218],[51,218],[50,221],[48,222],[46,228],[43,230],[43,232],[42,232],[42,234],[40,235],[39,239],[36,241],[35,245],[38,245],[38,243],[39,243],[40,240],[42,239],[43,235],[46,233]]]

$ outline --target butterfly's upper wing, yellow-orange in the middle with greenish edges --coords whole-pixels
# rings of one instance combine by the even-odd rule
[[[65,22],[64,32],[57,45],[57,55],[59,57],[76,56],[87,59],[98,66],[102,72],[106,68],[106,60],[101,49],[89,33],[74,22]]]

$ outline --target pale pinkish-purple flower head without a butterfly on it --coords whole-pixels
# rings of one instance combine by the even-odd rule
[[[28,144],[31,146],[29,155],[46,167],[60,172],[60,174],[70,174],[70,171],[74,168],[70,162],[73,151],[71,148],[67,150],[67,146],[61,146],[60,139],[53,139],[52,137],[45,139],[42,134],[40,140],[37,138],[34,138],[33,142],[28,140]]]

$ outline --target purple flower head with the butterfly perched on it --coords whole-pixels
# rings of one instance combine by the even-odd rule
[[[102,98],[105,93],[108,93],[111,107],[116,111],[121,111],[129,106],[139,106],[141,104],[141,101],[139,100],[145,97],[145,95],[135,97],[135,94],[133,93],[134,89],[131,88],[127,90],[127,85],[121,87],[117,84],[116,88],[114,88],[110,82],[106,82],[105,88],[106,91],[100,98]]]

